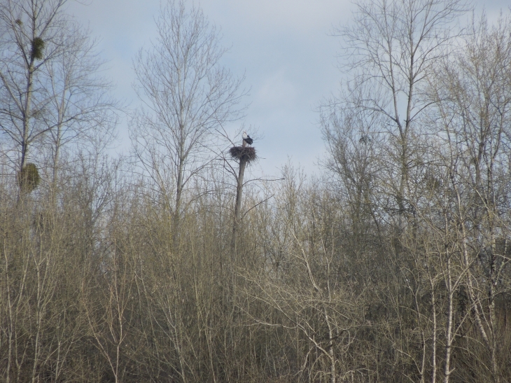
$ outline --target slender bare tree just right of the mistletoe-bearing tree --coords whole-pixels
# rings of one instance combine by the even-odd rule
[[[109,96],[111,84],[99,75],[103,62],[94,53],[90,33],[74,22],[68,22],[68,27],[66,49],[43,68],[48,104],[42,117],[49,131],[54,184],[62,148],[78,140],[81,149],[92,141],[108,144],[118,109],[118,103]]]

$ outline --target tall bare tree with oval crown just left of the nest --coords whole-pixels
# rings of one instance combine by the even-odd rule
[[[222,67],[219,45],[200,8],[169,1],[156,21],[158,39],[134,60],[135,89],[145,106],[132,120],[134,151],[167,195],[179,227],[183,193],[190,179],[214,158],[214,128],[240,116],[242,78]]]

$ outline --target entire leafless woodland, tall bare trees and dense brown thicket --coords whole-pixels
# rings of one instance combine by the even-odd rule
[[[323,175],[247,182],[200,8],[162,4],[113,158],[65,5],[0,4],[1,382],[511,382],[509,10],[356,1]]]

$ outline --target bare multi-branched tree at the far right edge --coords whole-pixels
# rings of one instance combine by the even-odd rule
[[[465,287],[493,382],[501,375],[496,300],[509,262],[510,30],[509,15],[493,26],[484,15],[472,20],[462,49],[439,63],[431,87],[439,135],[446,141],[444,166],[456,195]]]

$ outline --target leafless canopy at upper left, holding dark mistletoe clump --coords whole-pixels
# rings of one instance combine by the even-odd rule
[[[32,148],[49,148],[54,179],[62,146],[78,137],[82,148],[98,137],[105,142],[116,125],[117,105],[109,82],[97,74],[102,61],[90,31],[66,15],[65,4],[0,5],[0,138],[15,153],[18,171],[29,159],[43,162],[31,158]]]

